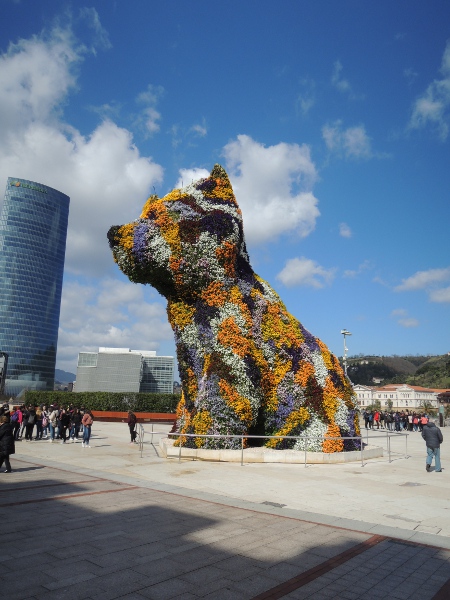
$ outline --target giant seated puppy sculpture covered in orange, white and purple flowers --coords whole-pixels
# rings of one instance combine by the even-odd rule
[[[290,315],[250,266],[241,211],[224,169],[151,196],[139,219],[111,227],[114,260],[167,299],[182,384],[177,429],[295,436],[273,448],[358,449],[352,387],[335,356]],[[333,438],[333,439],[330,439]],[[236,438],[182,437],[235,448]]]

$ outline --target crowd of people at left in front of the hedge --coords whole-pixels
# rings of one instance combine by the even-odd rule
[[[78,442],[82,448],[90,448],[91,428],[94,417],[89,409],[75,406],[51,405],[18,406],[13,410],[9,404],[0,408],[0,468],[5,463],[5,473],[11,472],[9,456],[15,453],[16,442],[59,440]],[[82,437],[80,438],[80,435]]]

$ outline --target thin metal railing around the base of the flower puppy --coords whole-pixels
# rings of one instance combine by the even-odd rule
[[[165,435],[168,437],[185,437],[185,438],[205,438],[205,439],[210,439],[210,438],[218,438],[218,439],[239,439],[241,440],[240,442],[240,450],[241,450],[241,466],[244,465],[244,440],[246,439],[264,439],[264,440],[268,440],[268,439],[276,439],[276,440],[304,440],[305,443],[305,448],[304,450],[298,450],[297,452],[304,452],[305,453],[305,460],[304,460],[304,465],[305,467],[307,466],[307,454],[308,454],[308,439],[311,439],[312,436],[308,436],[307,434],[302,434],[302,435],[297,435],[297,436],[292,436],[292,435],[244,435],[244,434],[240,434],[240,435],[230,435],[230,434],[198,434],[198,433],[167,433],[167,431],[155,431],[154,429],[154,423],[149,423],[149,425],[151,425],[152,429],[151,431],[145,431],[143,425],[141,423],[138,423],[138,440],[139,440],[139,450],[141,453],[141,458],[143,458],[143,451],[144,451],[144,438],[145,438],[145,434],[150,434],[151,435],[151,440],[150,440],[150,444],[153,445],[153,436],[154,435]],[[373,430],[371,430],[372,433]],[[399,432],[393,432],[390,430],[386,430],[385,433],[381,433],[381,435],[370,435],[369,436],[369,430],[366,431],[366,435],[365,435],[365,439],[366,442],[365,444],[368,446],[369,445],[369,438],[378,438],[380,439],[380,437],[382,437],[383,439],[386,439],[386,449],[388,452],[388,457],[389,457],[389,463],[392,462],[392,450],[391,450],[391,437],[395,437],[396,439],[398,439],[399,437],[404,437],[405,438],[405,453],[404,453],[404,458],[409,458],[408,456],[408,434],[407,433],[399,433]],[[343,437],[331,437],[331,436],[323,436],[324,440],[359,440],[360,442],[360,446],[361,449],[360,450],[356,450],[356,452],[360,452],[361,453],[361,466],[364,467],[365,466],[365,462],[364,462],[364,439],[363,436],[343,436]],[[181,451],[182,451],[183,446],[180,444],[179,445],[179,451],[178,451],[178,462],[181,461]],[[225,450],[225,448],[224,448]],[[311,452],[311,451],[310,451]],[[397,454],[397,453],[395,453]]]

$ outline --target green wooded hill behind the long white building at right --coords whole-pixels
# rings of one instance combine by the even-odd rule
[[[352,356],[348,375],[354,384],[409,383],[431,388],[450,388],[450,356]],[[381,380],[375,383],[376,380]]]

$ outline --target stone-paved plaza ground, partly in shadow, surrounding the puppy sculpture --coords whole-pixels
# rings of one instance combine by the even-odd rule
[[[1,597],[448,600],[443,433],[442,473],[425,471],[420,434],[408,458],[398,436],[392,462],[306,468],[166,460],[148,434],[141,458],[121,423],[96,422],[91,448],[17,443],[0,473]]]

